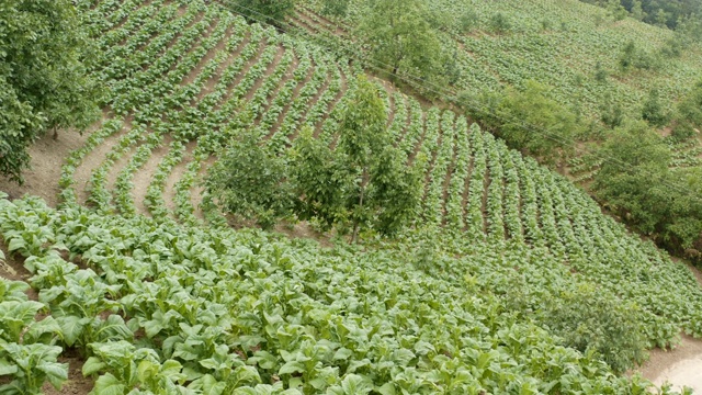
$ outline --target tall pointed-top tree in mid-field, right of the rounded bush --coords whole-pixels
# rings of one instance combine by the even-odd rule
[[[386,123],[377,88],[359,77],[336,150],[310,131],[295,143],[292,178],[303,196],[298,213],[329,226],[351,225],[353,242],[363,227],[392,234],[407,224],[419,202],[419,177],[393,147]]]

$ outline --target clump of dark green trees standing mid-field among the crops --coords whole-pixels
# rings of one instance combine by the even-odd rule
[[[378,88],[359,77],[342,115],[338,145],[304,127],[283,155],[260,134],[240,133],[211,168],[206,188],[225,211],[271,227],[281,218],[315,219],[325,229],[388,235],[419,203],[420,177],[405,163],[386,128]]]

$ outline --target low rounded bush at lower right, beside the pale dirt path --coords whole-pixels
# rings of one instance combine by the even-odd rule
[[[584,303],[587,301],[587,303]],[[638,306],[607,298],[591,284],[548,301],[544,320],[580,352],[597,352],[615,372],[623,373],[644,362],[646,340],[636,324]]]

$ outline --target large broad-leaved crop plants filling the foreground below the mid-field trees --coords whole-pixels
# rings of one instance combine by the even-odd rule
[[[488,290],[507,285],[512,264],[575,286],[545,270],[563,266],[543,250],[534,260],[523,247],[501,257],[471,244],[460,260],[438,253],[438,276],[411,264],[412,241],[363,252],[80,206],[56,211],[34,198],[0,200],[0,208],[2,237],[38,291],[27,301],[25,283],[0,279],[0,362],[19,388],[59,385],[63,349],[87,358],[82,373],[97,376],[98,394],[641,394],[647,386],[559,346]]]

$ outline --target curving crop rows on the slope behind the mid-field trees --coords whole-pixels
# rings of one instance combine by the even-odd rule
[[[162,0],[147,5],[104,1],[87,15],[112,23],[101,25],[101,45],[126,60],[105,60],[97,71],[111,86],[105,103],[115,115],[68,159],[60,180],[65,202],[83,203],[72,174],[91,150],[111,143],[92,172],[87,201],[102,212],[137,214],[132,179],[140,177],[140,167],[168,140],[169,149],[162,150],[167,154],[146,189],[145,214],[222,226],[226,221],[212,200],[205,195],[195,205],[193,195],[208,158],[242,128],[254,127],[262,143],[284,150],[306,123],[317,128],[318,138],[335,144],[344,92],[353,89],[353,78],[341,76],[353,70],[314,45],[249,26],[197,2],[184,7]],[[184,27],[169,35],[170,41],[159,32],[146,34],[150,26],[166,23],[161,18],[171,19],[169,26],[181,23]],[[652,347],[669,345],[679,329],[702,335],[701,309],[695,313],[690,306],[702,300],[684,267],[672,266],[650,245],[629,236],[567,180],[509,150],[476,125],[468,126],[465,119],[437,108],[422,109],[397,92],[382,92],[392,111],[388,128],[397,146],[408,162],[423,167],[427,174],[418,227],[442,227],[471,241],[546,248],[579,273],[596,276],[613,294],[641,298],[641,319]],[[420,156],[426,160],[416,160]],[[115,168],[120,160],[126,165]],[[162,195],[178,166],[182,171],[171,181],[174,192],[169,207]],[[612,282],[632,270],[666,285],[648,290],[642,283],[627,289]],[[688,296],[652,305],[652,295],[663,297],[672,287]]]

